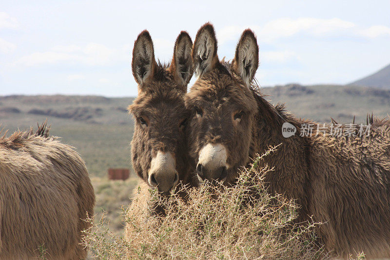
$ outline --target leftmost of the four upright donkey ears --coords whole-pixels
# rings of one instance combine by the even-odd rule
[[[142,31],[134,42],[131,66],[134,79],[140,86],[153,80],[156,68],[155,51],[147,30]]]

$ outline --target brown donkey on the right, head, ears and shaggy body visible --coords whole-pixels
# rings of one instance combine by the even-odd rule
[[[371,120],[368,137],[313,131],[284,138],[283,123],[299,133],[312,122],[271,105],[253,87],[258,45],[251,30],[241,35],[232,63],[225,63],[218,60],[213,26],[205,24],[192,57],[198,79],[186,106],[193,109],[189,142],[198,178],[232,183],[240,166],[282,143],[265,158],[274,167],[265,180],[269,191],[301,205],[298,221],[313,216],[324,222],[318,235],[336,255],[363,250],[369,258],[390,257],[390,121]]]

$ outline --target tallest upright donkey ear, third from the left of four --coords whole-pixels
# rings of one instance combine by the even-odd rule
[[[198,30],[192,49],[192,59],[197,77],[215,68],[219,62],[216,51],[217,40],[215,38],[214,26],[208,22]]]

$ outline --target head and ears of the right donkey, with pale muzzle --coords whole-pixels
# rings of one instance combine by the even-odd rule
[[[206,23],[196,34],[192,58],[198,78],[186,95],[186,106],[192,109],[190,155],[200,181],[230,182],[249,158],[257,112],[251,90],[258,67],[257,40],[245,30],[232,63],[219,61],[213,25]]]

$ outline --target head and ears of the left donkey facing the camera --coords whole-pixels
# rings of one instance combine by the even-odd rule
[[[170,65],[155,60],[148,31],[134,43],[132,70],[138,96],[128,110],[135,118],[132,163],[137,175],[168,192],[178,181],[187,182],[189,163],[184,128],[190,112],[184,95],[193,74],[192,40],[181,32]]]

